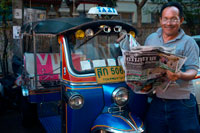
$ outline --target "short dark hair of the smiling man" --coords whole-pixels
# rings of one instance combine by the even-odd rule
[[[182,18],[183,17],[183,8],[182,8],[182,6],[178,2],[168,2],[168,3],[165,3],[162,6],[161,10],[160,10],[160,17],[162,17],[162,12],[163,12],[163,10],[165,8],[172,7],[172,6],[178,8],[178,10],[179,10],[179,17]]]

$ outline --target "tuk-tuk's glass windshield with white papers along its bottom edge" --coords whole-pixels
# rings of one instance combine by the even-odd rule
[[[81,72],[95,67],[117,66],[118,57],[122,55],[119,44],[115,43],[117,38],[117,34],[100,34],[87,41],[75,39],[75,43],[69,42],[75,44],[70,45],[73,67]]]

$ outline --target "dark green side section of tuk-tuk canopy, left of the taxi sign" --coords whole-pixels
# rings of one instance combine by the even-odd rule
[[[33,29],[36,34],[59,34],[72,27],[76,27],[92,20],[93,19],[85,17],[68,17],[36,21],[23,25],[21,33],[31,33],[31,29]]]

